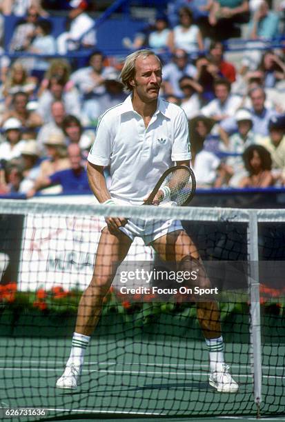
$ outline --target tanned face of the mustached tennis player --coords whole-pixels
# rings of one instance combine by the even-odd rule
[[[135,63],[135,77],[130,80],[134,94],[137,93],[144,103],[151,103],[157,100],[161,81],[161,65],[157,57],[138,57]]]

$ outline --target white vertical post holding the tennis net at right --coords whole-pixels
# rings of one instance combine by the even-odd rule
[[[248,211],[248,290],[250,295],[250,356],[254,380],[254,397],[257,405],[257,419],[262,402],[262,342],[259,301],[259,254],[257,211]]]

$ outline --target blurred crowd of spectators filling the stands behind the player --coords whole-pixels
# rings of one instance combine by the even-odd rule
[[[0,2],[0,35],[6,16],[19,17],[0,59],[1,195],[90,192],[86,157],[97,121],[126,99],[122,62],[101,52],[88,1],[69,5],[68,26],[56,38],[40,0]],[[285,185],[285,47],[268,44],[282,36],[281,5],[174,0],[121,40],[126,54],[152,48],[160,55],[160,94],[186,113],[198,188]],[[224,41],[241,32],[246,49],[233,59]],[[89,54],[83,66],[68,56],[79,50]],[[56,53],[63,57],[48,58]]]

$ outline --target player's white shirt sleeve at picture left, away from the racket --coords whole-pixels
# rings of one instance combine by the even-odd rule
[[[99,120],[95,141],[88,154],[88,161],[95,165],[106,166],[110,163],[111,135],[110,125],[106,124],[106,114]]]

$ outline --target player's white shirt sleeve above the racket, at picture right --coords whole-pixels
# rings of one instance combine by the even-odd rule
[[[188,120],[183,110],[180,110],[174,121],[174,142],[171,159],[173,161],[191,159]]]

